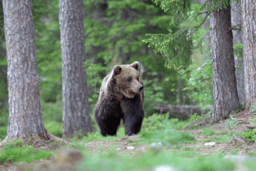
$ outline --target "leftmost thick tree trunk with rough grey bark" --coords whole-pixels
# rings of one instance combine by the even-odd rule
[[[41,115],[32,1],[4,0],[3,8],[9,96],[6,139],[29,135],[49,139]]]

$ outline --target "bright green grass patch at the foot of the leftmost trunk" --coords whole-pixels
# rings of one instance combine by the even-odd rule
[[[0,164],[6,162],[32,162],[39,159],[49,159],[52,152],[45,150],[36,151],[32,146],[23,145],[23,141],[9,141],[0,153]]]

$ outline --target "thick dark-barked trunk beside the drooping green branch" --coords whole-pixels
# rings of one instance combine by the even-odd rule
[[[210,14],[212,79],[216,122],[239,109],[236,71],[234,68],[230,5]]]

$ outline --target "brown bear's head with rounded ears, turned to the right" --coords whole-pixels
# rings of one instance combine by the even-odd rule
[[[140,63],[136,61],[131,65],[115,66],[113,69],[117,92],[126,98],[133,98],[137,93],[143,91],[139,66]]]

